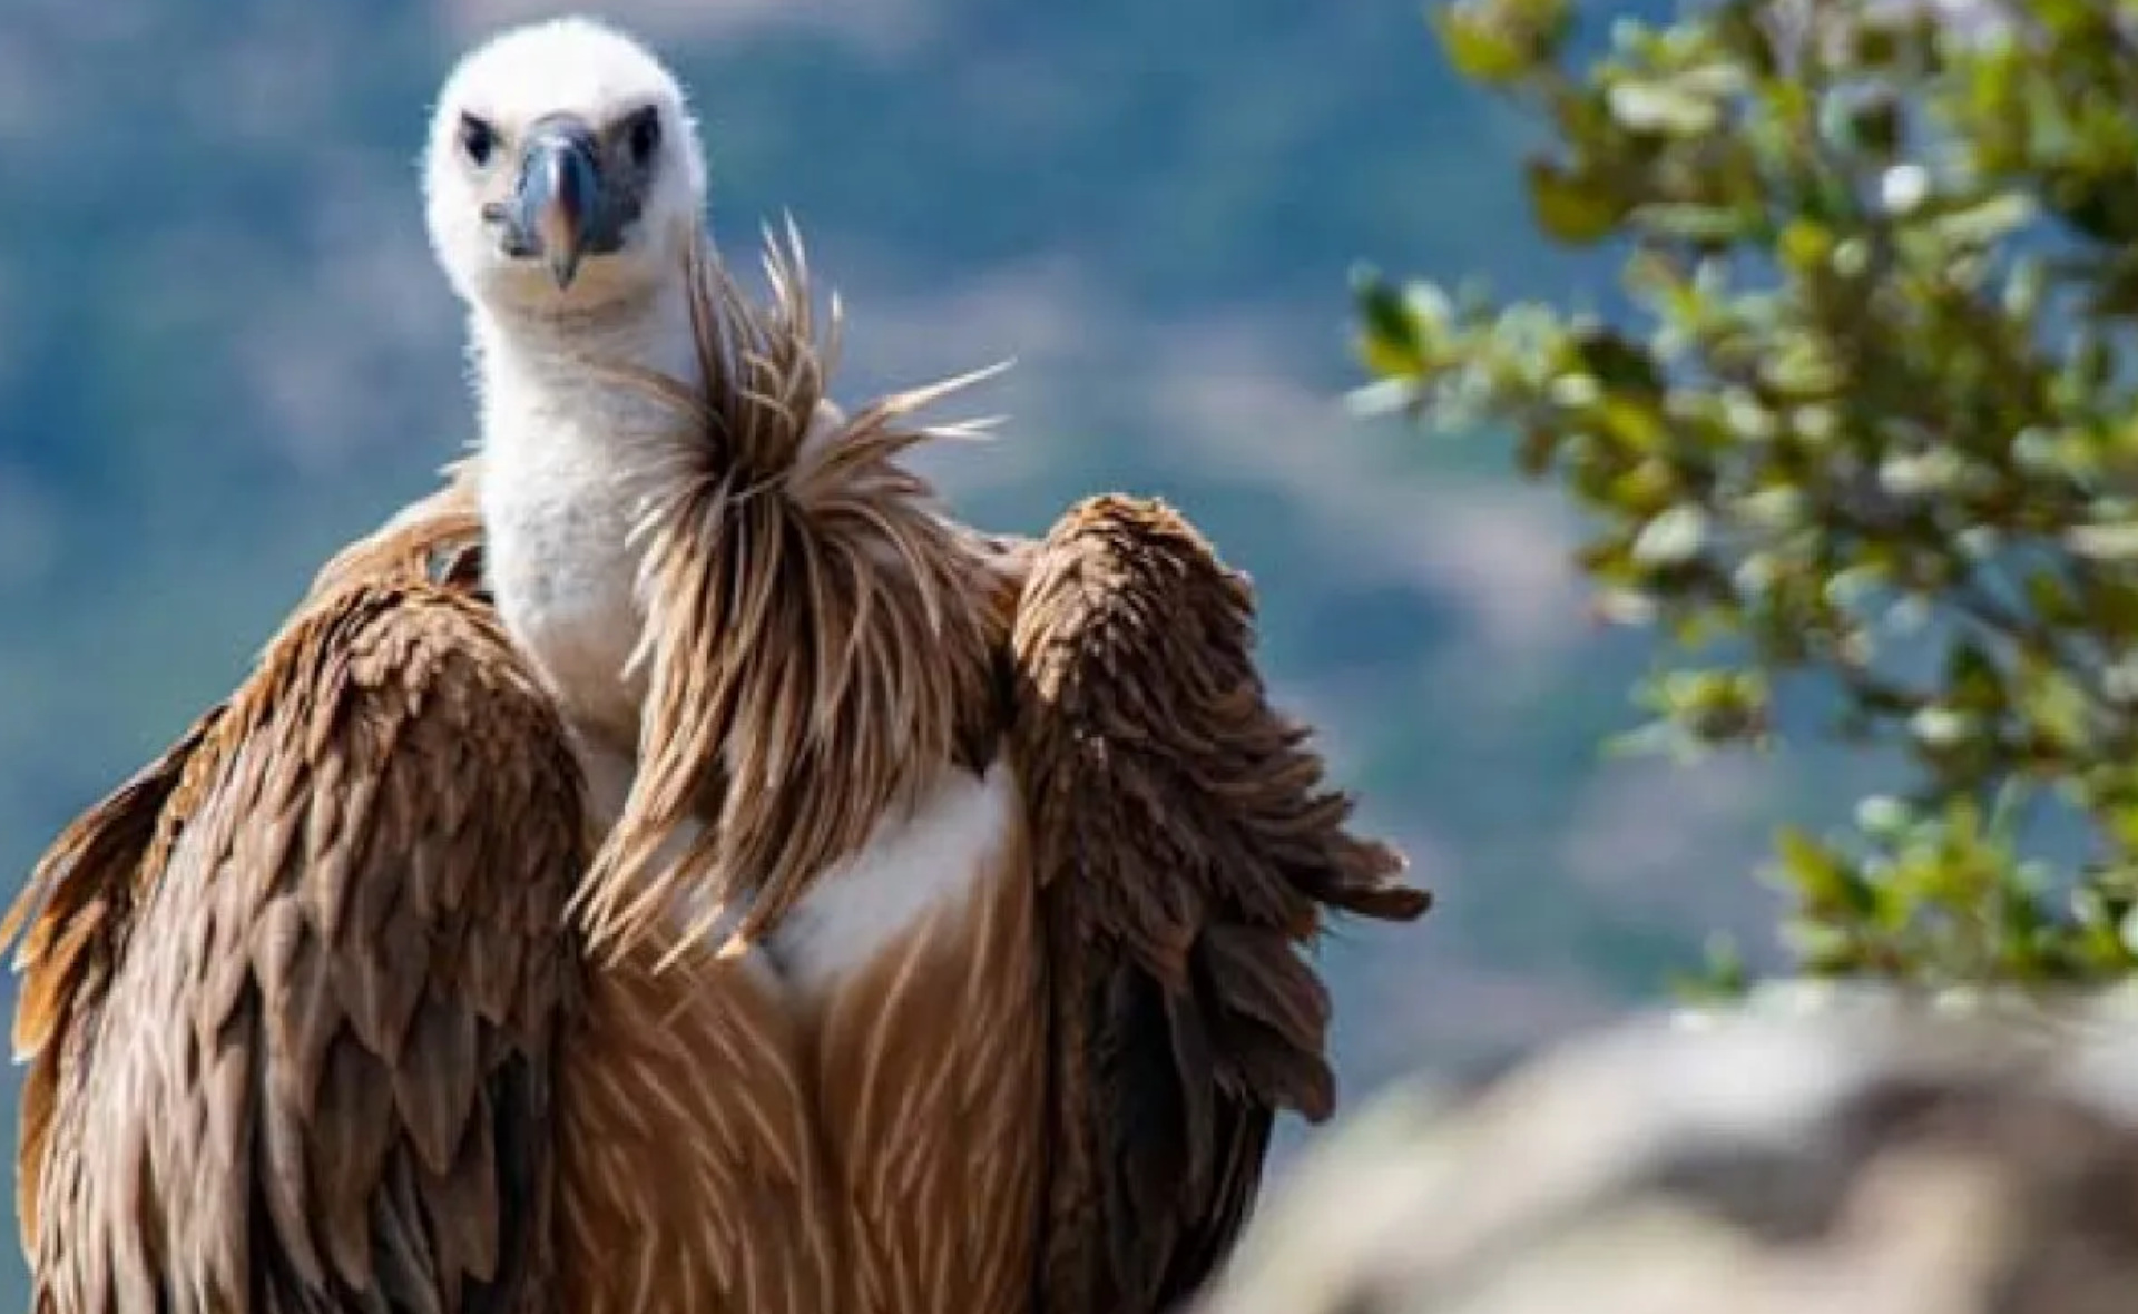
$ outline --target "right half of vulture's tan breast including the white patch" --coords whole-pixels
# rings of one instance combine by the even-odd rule
[[[1045,1008],[1016,778],[951,767],[817,878],[791,983],[866,1314],[1031,1303]]]

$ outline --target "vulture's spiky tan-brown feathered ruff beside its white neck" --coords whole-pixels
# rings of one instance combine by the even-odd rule
[[[915,805],[994,709],[998,581],[898,464],[919,442],[979,436],[990,421],[911,417],[992,370],[842,417],[825,397],[838,301],[819,340],[791,224],[785,250],[768,233],[763,267],[772,299],[757,306],[703,244],[691,250],[701,389],[616,370],[686,412],[697,440],[637,528],[648,701],[637,778],[582,887],[597,951],[622,953],[682,900],[693,934],[733,908],[729,947],[763,936],[815,874]],[[691,818],[706,823],[695,842],[652,872]]]

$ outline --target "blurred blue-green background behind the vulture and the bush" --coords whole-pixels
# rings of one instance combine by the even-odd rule
[[[11,885],[470,438],[417,150],[460,49],[543,13],[0,6]],[[1441,900],[1330,947],[1347,1096],[1655,998],[1710,929],[1766,949],[1745,874],[1839,797],[1824,763],[1608,761],[1648,647],[1589,624],[1559,496],[1494,436],[1343,410],[1355,261],[1608,295],[1533,235],[1524,124],[1456,83],[1413,0],[599,13],[693,88],[727,254],[793,212],[849,306],[842,397],[1018,359],[960,404],[1007,436],[928,457],[966,519],[1163,494],[1253,573],[1272,682]]]

